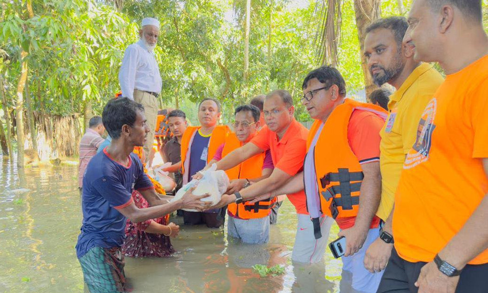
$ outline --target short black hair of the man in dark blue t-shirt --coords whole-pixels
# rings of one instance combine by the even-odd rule
[[[129,98],[117,98],[108,101],[103,108],[103,126],[113,139],[118,139],[122,133],[122,126],[134,126],[137,111],[144,112],[144,107]]]

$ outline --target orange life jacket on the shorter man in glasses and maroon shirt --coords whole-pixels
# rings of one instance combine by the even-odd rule
[[[236,148],[242,146],[242,143],[237,139],[235,133],[230,133],[227,139],[225,139],[224,149],[222,150],[222,157]],[[230,180],[234,179],[253,179],[261,177],[263,169],[265,153],[257,154],[236,167],[230,168],[225,171]],[[255,204],[236,204],[231,203],[227,206],[227,210],[236,217],[241,219],[259,219],[264,218],[269,214],[269,210],[276,203],[276,197],[272,199],[263,200]]]

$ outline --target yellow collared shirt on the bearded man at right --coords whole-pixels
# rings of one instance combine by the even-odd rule
[[[376,215],[386,221],[400,180],[405,155],[415,143],[417,126],[427,103],[444,82],[432,65],[415,68],[400,88],[390,96],[388,118],[381,129],[381,201]]]

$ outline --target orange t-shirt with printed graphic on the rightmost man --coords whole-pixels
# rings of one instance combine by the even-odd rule
[[[395,194],[398,255],[429,262],[488,193],[488,55],[447,75],[427,104]],[[488,263],[488,249],[469,264]]]

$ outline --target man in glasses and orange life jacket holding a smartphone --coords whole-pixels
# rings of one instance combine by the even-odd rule
[[[271,192],[277,195],[305,188],[314,234],[322,217],[336,220],[346,238],[343,270],[352,275],[354,290],[375,293],[382,272],[368,272],[365,251],[379,236],[375,216],[381,197],[380,130],[386,111],[346,99],[346,83],[336,68],[308,73],[302,85],[305,105],[315,119],[307,138],[304,172]],[[325,235],[326,237],[326,235]]]

